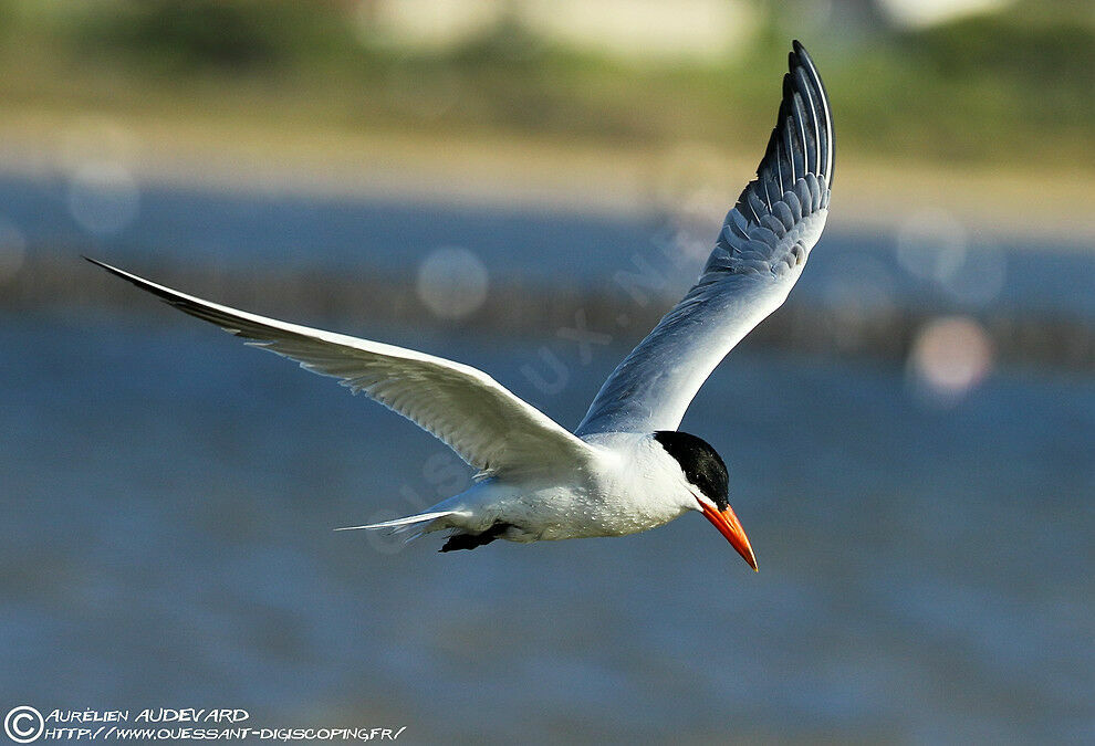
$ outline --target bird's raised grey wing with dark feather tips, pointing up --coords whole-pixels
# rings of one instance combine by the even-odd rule
[[[575,431],[676,430],[727,353],[779,308],[828,214],[833,119],[799,42],[768,150],[696,285],[608,377]]]

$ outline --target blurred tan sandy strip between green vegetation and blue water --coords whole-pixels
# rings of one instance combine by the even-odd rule
[[[0,122],[0,171],[51,179],[88,161],[178,187],[622,217],[726,210],[755,168],[754,157],[697,143],[650,149],[441,139],[52,112],[9,112]],[[1095,253],[1095,213],[1078,207],[1095,198],[1095,178],[1080,165],[1070,174],[845,157],[835,187],[830,224],[837,230],[895,231],[943,216],[985,238]]]

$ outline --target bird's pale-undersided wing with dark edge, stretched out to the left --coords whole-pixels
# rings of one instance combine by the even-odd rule
[[[470,366],[236,311],[87,261],[184,313],[250,339],[250,345],[341,379],[355,393],[365,392],[432,433],[480,470],[526,471],[530,464],[550,467],[556,460],[581,463],[592,452],[546,414]]]

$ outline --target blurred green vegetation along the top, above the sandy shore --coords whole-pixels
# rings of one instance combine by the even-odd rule
[[[1091,170],[1085,7],[1025,2],[925,30],[802,33],[845,153]],[[0,0],[0,14],[9,108],[636,145],[733,147],[770,124],[797,34],[773,11],[737,62],[628,65],[505,23],[446,51],[410,51],[376,34],[357,3],[335,0]]]

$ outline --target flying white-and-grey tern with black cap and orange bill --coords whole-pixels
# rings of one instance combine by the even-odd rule
[[[265,318],[88,259],[248,344],[338,378],[411,420],[478,469],[472,486],[424,513],[347,528],[447,532],[441,551],[494,539],[624,536],[698,511],[757,569],[729,503],[726,463],[677,430],[727,353],[779,308],[828,214],[833,122],[795,41],[775,128],[699,280],[604,382],[574,432],[481,370],[411,349]]]

